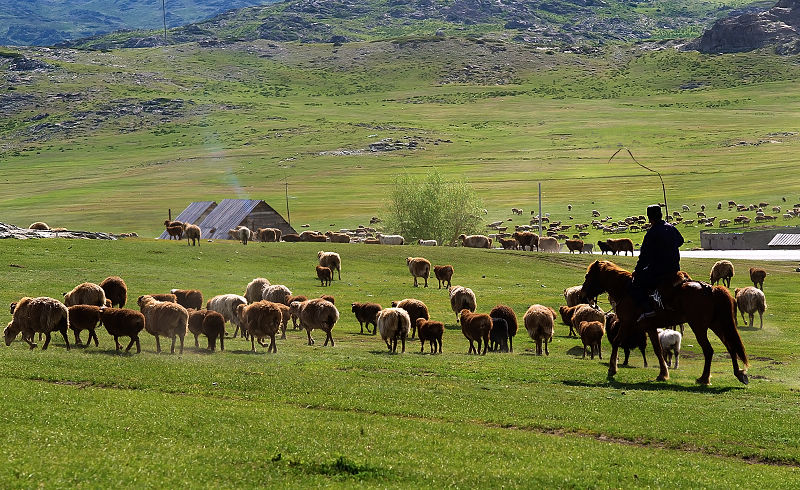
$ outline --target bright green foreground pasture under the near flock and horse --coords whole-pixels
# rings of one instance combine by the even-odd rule
[[[653,381],[651,351],[651,367],[634,353],[633,367],[609,382],[606,357],[581,359],[580,341],[560,322],[549,357],[533,354],[524,329],[513,353],[466,355],[446,291],[435,283],[414,289],[404,261],[451,263],[453,283],[475,291],[479,311],[502,302],[521,319],[531,304],[563,304],[563,289],[582,282],[586,256],[329,245],[342,256],[343,280],[322,288],[313,272],[318,249],[0,241],[3,304],[60,297],[112,274],[127,281],[129,306],[173,287],[206,298],[242,294],[263,276],[296,294],[333,294],[341,312],[335,347],[307,346],[304,333],[289,331],[274,355],[253,354],[241,339],[208,354],[191,336],[183,356],[158,355],[147,334],[141,354],[118,355],[105,331],[99,348],[67,352],[60,336],[44,352],[19,340],[0,348],[0,485],[785,488],[800,479],[794,264],[734,263],[734,287],[747,285],[751,265],[769,272],[763,330],[740,326],[751,382],[734,378],[714,337],[713,384],[700,387],[702,355],[689,330],[666,383]],[[682,266],[705,277],[711,263]],[[442,355],[420,355],[416,342],[390,355],[379,338],[359,333],[350,302],[386,306],[404,297],[425,301],[446,322]],[[603,349],[608,355],[607,341]]]

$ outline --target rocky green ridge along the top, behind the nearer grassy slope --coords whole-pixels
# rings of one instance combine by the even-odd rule
[[[333,42],[405,36],[483,35],[538,44],[691,38],[715,20],[762,2],[727,0],[288,0],[226,12],[171,30],[168,42]],[[144,47],[157,31],[127,32],[71,44]]]

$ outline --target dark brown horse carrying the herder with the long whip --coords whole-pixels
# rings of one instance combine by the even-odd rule
[[[661,352],[656,328],[664,328],[678,322],[689,323],[697,338],[697,343],[703,349],[705,366],[703,374],[697,378],[700,384],[708,385],[711,378],[711,357],[714,349],[708,341],[708,329],[717,334],[725,345],[733,361],[733,374],[744,384],[748,383],[747,370],[739,368],[738,360],[744,363],[745,368],[750,364],[744,351],[742,338],[736,329],[736,314],[734,301],[727,289],[721,286],[711,286],[688,279],[688,274],[678,272],[673,284],[660,288],[662,297],[669,309],[659,312],[655,317],[636,322],[641,314],[633,298],[630,296],[633,275],[609,261],[594,261],[586,270],[586,278],[582,291],[587,296],[595,296],[607,292],[609,299],[617,304],[617,316],[620,329],[617,337],[611,340],[611,359],[608,366],[608,376],[617,373],[617,349],[622,339],[627,338],[635,329],[644,329],[650,336],[653,351],[658,357],[661,372],[659,381],[669,379],[669,370]]]

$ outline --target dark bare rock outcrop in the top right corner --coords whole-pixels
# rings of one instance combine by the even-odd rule
[[[800,53],[800,0],[780,0],[766,11],[717,21],[690,47],[703,53],[734,53],[774,46],[779,54]]]

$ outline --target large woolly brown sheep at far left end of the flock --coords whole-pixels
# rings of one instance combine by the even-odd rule
[[[38,332],[45,335],[42,350],[46,350],[50,345],[50,332],[59,331],[67,344],[67,350],[69,350],[69,339],[67,338],[69,312],[60,301],[45,296],[24,297],[17,303],[13,303],[11,308],[13,317],[3,330],[6,345],[11,345],[11,342],[22,332],[22,340],[27,342],[33,350],[36,348],[33,334]]]

